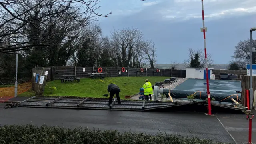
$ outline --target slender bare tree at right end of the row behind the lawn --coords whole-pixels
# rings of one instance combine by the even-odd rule
[[[155,43],[151,41],[147,41],[145,43],[145,47],[143,48],[144,59],[147,60],[150,68],[156,67],[156,48]]]

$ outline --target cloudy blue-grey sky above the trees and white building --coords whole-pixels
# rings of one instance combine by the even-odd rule
[[[140,29],[155,42],[157,63],[182,63],[188,48],[204,48],[201,0],[101,0],[98,22],[104,36],[115,28]],[[207,53],[215,64],[228,64],[235,46],[256,27],[255,0],[204,0]],[[256,38],[256,32],[253,36]]]

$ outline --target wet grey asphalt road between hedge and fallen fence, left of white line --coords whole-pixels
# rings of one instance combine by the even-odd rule
[[[108,110],[70,110],[47,108],[0,108],[0,124],[35,124],[64,127],[88,127],[120,132],[167,132],[183,136],[234,141],[215,116],[194,112],[130,112]]]

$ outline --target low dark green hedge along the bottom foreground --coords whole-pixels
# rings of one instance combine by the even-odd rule
[[[60,128],[43,125],[0,126],[0,144],[223,144],[158,132],[155,135],[116,130]]]

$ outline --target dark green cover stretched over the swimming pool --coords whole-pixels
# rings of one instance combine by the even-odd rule
[[[240,102],[241,94],[236,93],[236,91],[242,90],[240,81],[209,80],[209,88],[211,98],[216,101],[233,102],[231,98],[234,98]],[[164,89],[163,91],[166,97],[168,97],[168,92],[169,89]],[[170,92],[174,98],[187,98],[187,96],[194,94],[196,99],[204,100],[207,98],[206,80],[188,79]]]

